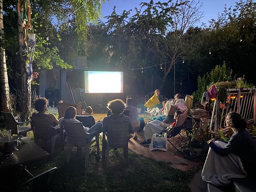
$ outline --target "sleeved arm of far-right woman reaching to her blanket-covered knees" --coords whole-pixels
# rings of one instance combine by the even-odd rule
[[[217,146],[214,142],[210,142],[209,146],[210,148],[212,148],[212,150],[214,150],[214,152],[218,153],[219,155],[227,156],[228,154],[236,151],[241,142],[242,137],[239,135],[235,135],[230,138],[228,144],[224,148]]]

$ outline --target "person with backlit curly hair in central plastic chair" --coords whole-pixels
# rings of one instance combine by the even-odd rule
[[[103,119],[103,127],[111,126],[111,124],[115,124],[116,122],[118,123],[129,122],[130,123],[129,132],[134,133],[134,127],[132,126],[132,122],[130,118],[122,114],[125,108],[124,102],[122,100],[114,99],[108,102],[108,108],[111,110],[111,114]]]

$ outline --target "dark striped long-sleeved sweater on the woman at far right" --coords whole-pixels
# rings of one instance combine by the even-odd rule
[[[243,163],[255,164],[256,162],[256,144],[246,129],[234,132],[224,148],[217,146],[214,142],[210,142],[209,146],[221,156],[234,153]]]

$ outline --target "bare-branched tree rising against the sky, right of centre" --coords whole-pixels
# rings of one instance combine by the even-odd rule
[[[202,18],[200,11],[202,4],[195,0],[183,1],[180,0],[180,5],[176,7],[176,12],[172,15],[173,23],[170,26],[171,30],[167,37],[169,39],[168,46],[171,50],[171,60],[168,64],[167,70],[162,79],[162,85],[166,80],[167,75],[170,73],[172,66],[178,61],[179,58],[184,57],[186,49],[184,49],[184,34],[188,28],[194,26]],[[175,86],[175,85],[174,85]]]

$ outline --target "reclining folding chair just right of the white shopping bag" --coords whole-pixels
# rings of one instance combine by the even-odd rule
[[[177,122],[175,124],[175,126],[173,128],[170,128],[170,129],[166,129],[166,130],[163,130],[160,132],[163,133],[163,132],[166,132],[167,133],[167,141],[177,150],[179,151],[175,146],[174,144],[172,144],[172,142],[170,141],[170,138],[180,134],[180,131],[182,129],[182,125],[184,124],[185,120],[186,120],[186,117],[188,116],[188,110],[186,110],[184,113],[178,115],[177,117]],[[175,129],[175,128],[179,128],[179,129]]]

